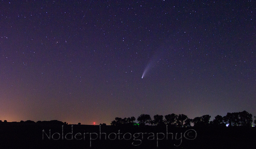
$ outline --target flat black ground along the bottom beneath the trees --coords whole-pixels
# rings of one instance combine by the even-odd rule
[[[2,122],[0,149],[256,149],[256,127],[168,127],[168,133],[173,133],[168,140],[165,125],[101,126],[101,133],[106,133],[106,139],[105,134],[99,135],[99,125],[73,125],[72,133],[72,125],[62,129],[61,124]]]

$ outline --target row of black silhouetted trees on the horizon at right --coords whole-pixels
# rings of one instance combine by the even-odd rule
[[[254,116],[256,118],[256,116]],[[184,114],[168,114],[166,116],[155,115],[153,119],[148,114],[141,114],[137,121],[139,126],[144,125],[171,125],[174,127],[191,127],[193,124],[195,127],[200,126],[251,126],[252,125],[252,114],[247,111],[227,113],[226,116],[215,116],[214,120],[210,121],[210,115],[203,115],[200,117],[195,117],[194,119],[188,118]],[[113,126],[121,125],[134,125],[136,118],[134,116],[128,118],[116,117],[115,120],[111,122]],[[256,124],[256,120],[254,120]]]

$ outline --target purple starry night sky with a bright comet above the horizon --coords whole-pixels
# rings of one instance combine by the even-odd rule
[[[255,0],[1,1],[0,120],[256,116],[255,18]]]

